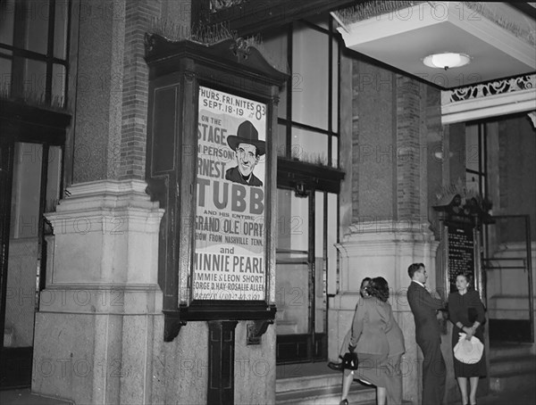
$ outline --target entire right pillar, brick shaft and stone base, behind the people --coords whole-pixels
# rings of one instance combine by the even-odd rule
[[[330,341],[329,355],[337,359],[361,279],[385,277],[406,341],[404,399],[418,403],[422,354],[406,301],[407,268],[423,262],[434,286],[439,243],[430,229],[428,175],[430,170],[436,181],[442,177],[441,161],[431,160],[429,148],[442,145],[440,97],[414,79],[361,61],[353,61],[352,79],[352,224],[337,246],[339,291],[331,299],[329,319],[331,335],[339,339]]]

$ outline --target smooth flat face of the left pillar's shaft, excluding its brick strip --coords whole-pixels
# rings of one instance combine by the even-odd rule
[[[72,183],[117,178],[125,0],[82,0],[79,15]]]

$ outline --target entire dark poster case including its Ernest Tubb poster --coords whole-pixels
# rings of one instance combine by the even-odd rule
[[[195,320],[251,319],[262,332],[275,318],[274,131],[288,75],[240,39],[147,36],[146,60],[164,340]]]

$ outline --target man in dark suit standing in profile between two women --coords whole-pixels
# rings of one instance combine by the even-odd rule
[[[436,311],[444,305],[438,293],[432,294],[424,286],[428,275],[423,263],[414,263],[407,269],[411,284],[407,302],[415,317],[415,337],[423,351],[423,405],[440,405],[445,395],[447,368],[441,354],[441,335]]]

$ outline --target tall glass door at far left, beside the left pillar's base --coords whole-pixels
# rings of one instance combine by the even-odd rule
[[[60,191],[59,146],[4,141],[0,204],[2,352],[0,388],[31,384],[34,318],[44,285],[44,217]]]

